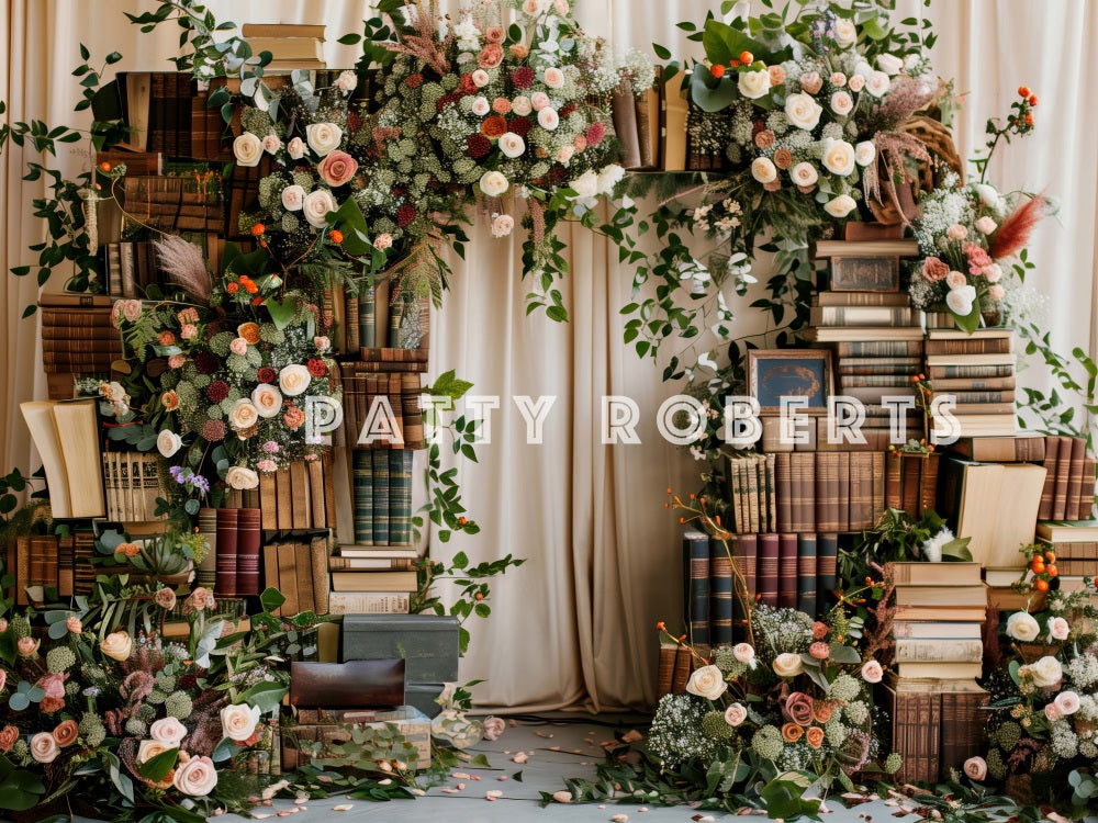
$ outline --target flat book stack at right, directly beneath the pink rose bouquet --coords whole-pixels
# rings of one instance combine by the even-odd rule
[[[926,375],[931,399],[952,396],[962,437],[1015,433],[1013,331],[929,329]],[[944,429],[935,429],[944,431]]]

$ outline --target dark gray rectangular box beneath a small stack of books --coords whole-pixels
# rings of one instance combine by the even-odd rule
[[[407,683],[439,684],[458,679],[458,619],[436,615],[347,615],[339,659],[400,657]]]

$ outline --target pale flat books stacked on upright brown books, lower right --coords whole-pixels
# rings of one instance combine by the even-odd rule
[[[988,696],[981,676],[987,590],[978,563],[896,563],[896,666],[881,684],[897,779],[935,782],[981,753]]]

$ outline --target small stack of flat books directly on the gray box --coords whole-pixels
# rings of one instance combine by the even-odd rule
[[[328,559],[333,615],[406,615],[418,588],[415,545],[341,545]]]

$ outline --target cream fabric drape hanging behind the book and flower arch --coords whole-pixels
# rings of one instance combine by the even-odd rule
[[[328,25],[328,65],[348,65],[350,52],[334,41],[356,31],[368,3],[351,0],[214,0],[210,8],[237,22],[317,22]],[[658,42],[682,55],[687,44],[674,27],[701,22],[716,0],[580,0],[589,29],[616,50],[649,50]],[[758,3],[757,3],[758,5]],[[1058,223],[1046,222],[1033,243],[1033,284],[1051,295],[1049,328],[1061,349],[1096,349],[1095,189],[1098,114],[1088,99],[1085,67],[1098,58],[1098,9],[1087,0],[899,0],[898,16],[927,14],[940,34],[933,56],[940,74],[971,92],[959,123],[963,154],[981,144],[987,116],[1007,110],[1015,89],[1041,95],[1037,134],[1009,147],[993,170],[1004,188],[1045,190],[1063,204]],[[83,42],[96,59],[112,49],[119,69],[169,68],[175,34],[138,35],[122,11],[150,10],[152,0],[9,0],[0,5],[0,94],[10,120],[76,121],[78,90],[69,76]],[[643,13],[639,13],[643,9]],[[64,149],[60,168],[87,162]],[[4,210],[0,260],[4,269],[32,261],[26,245],[42,238],[30,216],[40,183],[24,183],[30,150],[9,148],[0,161]],[[464,262],[455,259],[452,291],[433,318],[432,373],[457,369],[474,393],[500,395],[492,413],[492,443],[480,462],[459,463],[470,516],[480,535],[433,545],[435,556],[467,551],[474,561],[513,552],[523,567],[494,584],[493,616],[470,628],[464,679],[486,677],[475,696],[484,707],[524,709],[587,703],[642,707],[653,699],[657,620],[674,622],[681,610],[675,518],[663,509],[664,488],[688,491],[697,464],[664,443],[656,412],[675,387],[660,369],[640,362],[621,340],[618,308],[628,302],[631,272],[617,250],[582,229],[564,239],[572,275],[564,285],[572,320],[526,317],[520,252],[514,240],[492,240],[483,217]],[[761,270],[757,273],[764,275]],[[760,277],[760,279],[764,279]],[[33,282],[7,278],[2,294],[5,353],[0,356],[0,467],[27,467],[31,448],[18,403],[44,394],[41,347],[34,322],[20,322],[34,297]],[[749,301],[757,295],[749,295]],[[744,306],[743,328],[755,330]],[[1027,373],[1041,383],[1039,370]],[[513,395],[554,396],[544,444],[526,444],[526,424]],[[600,441],[603,395],[628,395],[641,409],[639,446]]]

